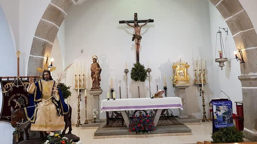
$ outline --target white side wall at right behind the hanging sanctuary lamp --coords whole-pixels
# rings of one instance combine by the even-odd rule
[[[218,32],[218,28],[228,28],[228,25],[225,23],[224,18],[220,15],[219,11],[213,6],[211,2],[209,2],[209,10],[210,10],[210,26],[211,26],[211,45],[212,51],[215,52],[215,44],[216,44],[216,33]],[[235,42],[232,38],[232,34],[228,29],[228,35],[226,35],[225,31],[220,30],[223,36],[224,47],[226,48],[226,54],[228,61],[225,62],[225,67],[223,70],[220,69],[218,63],[214,61],[215,56],[213,54],[213,70],[215,78],[215,97],[216,98],[227,98],[227,96],[220,92],[220,90],[224,91],[233,102],[233,113],[236,113],[236,104],[235,101],[242,101],[242,88],[241,82],[238,79],[238,76],[241,74],[239,62],[234,59],[234,51],[237,51],[235,46]],[[219,37],[218,37],[219,40]],[[217,51],[220,50],[217,44]],[[219,54],[216,51],[216,58],[219,58]]]

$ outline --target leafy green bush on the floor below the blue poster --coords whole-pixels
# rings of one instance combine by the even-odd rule
[[[211,143],[242,143],[244,142],[244,133],[233,127],[223,127],[211,134]]]

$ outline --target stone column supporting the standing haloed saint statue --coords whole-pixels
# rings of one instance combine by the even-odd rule
[[[99,113],[98,117],[96,118],[96,122],[101,122],[101,120],[100,120],[99,95],[101,95],[102,93],[103,93],[103,90],[89,90],[89,94],[93,95],[93,109],[97,109],[97,111]]]

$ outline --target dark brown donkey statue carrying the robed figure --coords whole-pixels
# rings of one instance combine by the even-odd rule
[[[72,131],[72,126],[71,126],[72,108],[71,108],[71,106],[69,106],[69,107],[70,107],[70,109],[69,109],[68,113],[63,115],[64,116],[64,122],[65,122],[65,128],[62,131],[62,135],[65,134],[65,132],[66,132],[68,127],[69,127],[68,134],[71,134],[71,131]],[[11,107],[11,111],[12,111],[12,115],[11,115],[11,125],[12,125],[12,127],[16,127],[16,125],[17,125],[16,122],[19,122],[22,119],[23,120],[28,120],[26,115],[25,115],[24,109],[16,109],[16,110],[14,110],[13,107]],[[26,135],[26,140],[29,140],[28,129],[31,127],[31,122],[28,122],[28,123],[29,124],[24,127],[24,131],[25,131],[25,135]],[[40,131],[40,137],[44,138],[44,134],[41,131]]]

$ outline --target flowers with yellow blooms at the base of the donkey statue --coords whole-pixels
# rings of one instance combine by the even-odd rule
[[[59,134],[54,136],[47,136],[48,140],[43,144],[74,144],[72,140],[69,140],[67,137],[62,137]]]

